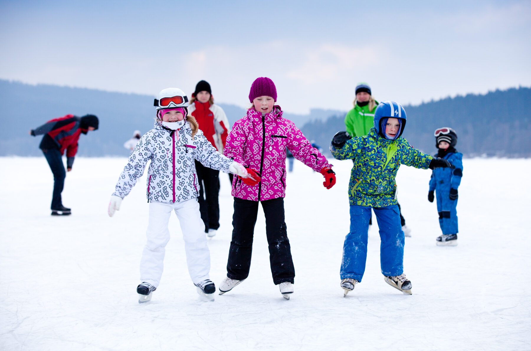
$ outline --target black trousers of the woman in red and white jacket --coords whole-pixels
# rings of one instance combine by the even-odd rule
[[[199,181],[199,212],[204,231],[219,228],[219,170],[203,166],[195,161]]]

